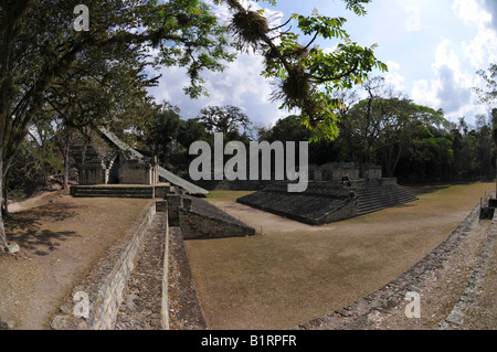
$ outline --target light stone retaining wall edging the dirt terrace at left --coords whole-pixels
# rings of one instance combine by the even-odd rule
[[[52,320],[52,329],[114,329],[124,290],[155,214],[156,205],[150,203],[139,224],[110,247],[85,280],[74,287],[71,301],[60,308],[63,314]],[[80,297],[81,301],[73,301],[74,297]],[[76,306],[83,308],[81,305],[85,305],[85,301],[89,303],[88,317],[75,317],[75,313],[80,312]],[[81,313],[83,314],[84,310]]]

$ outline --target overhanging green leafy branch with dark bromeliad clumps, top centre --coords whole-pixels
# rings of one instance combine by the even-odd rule
[[[343,1],[349,10],[363,15],[363,4],[371,0]],[[224,2],[233,12],[229,28],[237,49],[252,49],[264,56],[263,75],[276,81],[272,98],[283,102],[282,108],[299,108],[302,122],[318,132],[316,139],[338,136],[334,111],[342,103],[331,98],[334,93],[361,84],[373,68],[387,71],[387,65],[374,57],[376,45],[362,47],[350,40],[342,28],[345,18],[322,17],[315,11],[310,17],[293,14],[284,24],[271,28],[263,10],[245,9],[237,0],[216,2]],[[298,42],[293,22],[310,38],[307,43]],[[335,51],[326,52],[316,45],[319,38],[341,42]]]

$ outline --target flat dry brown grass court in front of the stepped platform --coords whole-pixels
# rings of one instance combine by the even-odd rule
[[[286,329],[342,308],[422,259],[493,190],[415,186],[416,202],[320,227],[234,202],[247,192],[212,192],[258,234],[187,242],[208,327]]]

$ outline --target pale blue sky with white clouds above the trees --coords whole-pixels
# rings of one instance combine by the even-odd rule
[[[472,87],[483,84],[477,71],[497,63],[497,0],[373,0],[366,4],[364,17],[347,11],[341,0],[277,2],[250,4],[264,8],[275,24],[314,9],[320,15],[345,17],[351,40],[361,46],[378,44],[374,55],[389,66],[388,73],[372,72],[370,77],[384,76],[414,103],[442,108],[453,122],[465,117],[472,125],[476,115],[487,114]],[[319,46],[337,43],[321,41]],[[158,103],[177,105],[186,119],[207,106],[234,105],[255,125],[272,126],[290,113],[271,102],[272,81],[260,75],[262,70],[260,56],[239,55],[223,73],[204,73],[209,96],[192,100],[182,90],[188,85],[184,70],[168,67],[150,94]]]

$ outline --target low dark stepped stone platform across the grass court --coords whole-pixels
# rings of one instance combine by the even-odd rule
[[[279,182],[236,202],[310,225],[324,225],[416,201],[395,179],[310,181],[306,192],[288,193]]]

